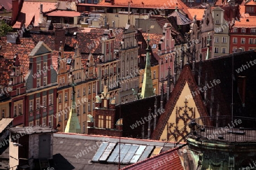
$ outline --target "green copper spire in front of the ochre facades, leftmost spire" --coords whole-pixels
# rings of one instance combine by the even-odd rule
[[[75,86],[76,83],[74,83],[74,76],[72,75],[71,72],[71,77],[72,77],[72,108],[71,111],[69,112],[69,117],[68,117],[68,122],[67,122],[67,126],[65,128],[65,133],[81,133],[81,127],[79,124],[79,119],[77,117],[77,112],[76,112],[76,92],[75,92]]]

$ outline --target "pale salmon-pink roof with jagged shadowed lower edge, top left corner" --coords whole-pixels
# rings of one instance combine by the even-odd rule
[[[37,26],[40,22],[40,4],[43,5],[43,12],[55,9],[57,6],[57,3],[24,1],[22,9],[20,10],[19,18],[16,20],[13,28],[20,28],[22,22],[24,22],[26,28],[28,25],[32,24],[31,22],[34,22],[34,25]]]

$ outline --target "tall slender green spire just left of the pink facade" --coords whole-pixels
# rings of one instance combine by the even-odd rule
[[[142,92],[141,96],[144,97],[150,97],[154,96],[154,88],[153,83],[151,79],[151,65],[150,65],[150,49],[149,49],[149,27],[148,27],[148,36],[147,36],[147,56],[146,56],[146,66],[144,70],[144,78],[142,83]]]

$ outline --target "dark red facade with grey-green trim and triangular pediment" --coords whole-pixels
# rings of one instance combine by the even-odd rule
[[[26,80],[26,126],[56,127],[57,73],[52,66],[52,50],[40,41],[29,54]]]

